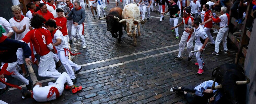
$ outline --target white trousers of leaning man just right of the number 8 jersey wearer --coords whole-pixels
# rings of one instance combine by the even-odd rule
[[[75,79],[75,74],[74,74],[74,71],[72,68],[74,68],[75,71],[77,71],[81,68],[81,66],[78,66],[77,64],[68,60],[68,51],[66,51],[66,55],[65,55],[64,49],[58,50],[58,56],[60,57],[60,61],[61,61],[62,65],[64,66],[64,68],[66,69],[68,76],[71,79]]]

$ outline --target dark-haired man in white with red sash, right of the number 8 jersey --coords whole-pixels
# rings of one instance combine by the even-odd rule
[[[74,83],[77,79],[75,78],[75,74],[72,68],[75,69],[75,71],[80,71],[82,69],[81,66],[78,66],[77,64],[73,63],[72,61],[68,60],[68,52],[70,54],[73,54],[69,51],[68,43],[64,39],[62,33],[60,30],[56,29],[56,23],[53,20],[48,20],[45,23],[47,30],[49,30],[52,34],[52,41],[53,46],[56,48],[58,56],[60,58],[60,61],[64,68],[66,69],[69,77],[71,78],[72,82]]]

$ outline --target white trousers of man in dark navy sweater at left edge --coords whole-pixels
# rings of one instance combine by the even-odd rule
[[[19,72],[17,72],[17,70],[16,70],[16,68],[15,68],[15,66],[17,65],[17,63],[18,63],[17,61],[12,62],[12,63],[8,63],[8,67],[7,67],[6,70],[7,70],[8,72],[14,72],[14,73],[11,75],[12,77],[14,77],[14,78],[20,80],[22,83],[28,85],[28,84],[29,84],[29,83],[28,83],[28,80],[27,80],[24,76],[22,76]],[[2,67],[3,67],[4,64],[5,64],[5,63],[2,62],[1,69],[2,69]],[[5,88],[5,87],[6,87],[6,85],[3,84],[2,82],[0,82],[0,89],[3,89],[3,88]]]

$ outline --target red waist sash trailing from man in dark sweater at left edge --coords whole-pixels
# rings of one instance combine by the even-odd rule
[[[3,35],[3,36],[4,36],[4,35]],[[7,71],[7,70],[6,70],[7,67],[8,67],[8,63],[4,63],[4,65],[3,65],[3,67],[2,67],[2,69],[1,69],[1,71],[0,71],[0,75],[2,75],[2,74],[4,74],[4,75],[12,75],[12,74],[14,73],[13,71],[12,71],[11,73],[10,73],[9,71]],[[13,74],[13,75],[15,75],[15,74]],[[10,86],[10,87],[13,87],[13,88],[18,88],[18,89],[21,90],[21,88],[20,88],[19,86],[15,85],[15,84],[6,83],[6,82],[3,81],[3,79],[1,79],[1,78],[0,78],[0,82],[4,83],[4,84],[7,85],[7,86]]]

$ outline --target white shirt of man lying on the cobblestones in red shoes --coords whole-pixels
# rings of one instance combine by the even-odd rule
[[[47,95],[49,93],[51,86],[45,86],[45,87],[39,87],[39,85],[36,85],[33,88],[33,98],[38,102],[46,102],[50,100],[56,99],[56,94],[54,93],[53,96],[50,97],[50,99],[47,98]],[[62,92],[59,92],[60,95],[62,95]]]

